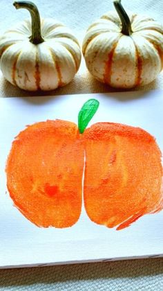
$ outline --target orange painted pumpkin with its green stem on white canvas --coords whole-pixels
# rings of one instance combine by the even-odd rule
[[[8,191],[19,211],[39,227],[77,222],[83,175],[84,206],[97,224],[122,229],[162,209],[161,152],[155,139],[119,123],[86,129],[98,105],[94,99],[84,104],[79,128],[68,121],[39,122],[12,143]]]

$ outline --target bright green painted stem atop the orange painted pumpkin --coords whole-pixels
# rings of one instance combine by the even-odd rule
[[[96,99],[89,99],[81,107],[78,114],[78,128],[81,134],[84,133],[84,130],[86,129],[88,123],[97,112],[98,107],[99,101],[97,101]]]

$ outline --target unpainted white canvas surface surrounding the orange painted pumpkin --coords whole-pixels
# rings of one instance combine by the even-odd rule
[[[163,212],[144,215],[117,231],[93,223],[84,205],[73,227],[36,227],[13,206],[6,186],[6,160],[15,136],[26,125],[62,119],[77,123],[90,98],[99,109],[90,121],[124,123],[155,136],[163,151],[163,91],[0,98],[0,267],[109,261],[163,255]],[[37,152],[36,152],[37,155]]]

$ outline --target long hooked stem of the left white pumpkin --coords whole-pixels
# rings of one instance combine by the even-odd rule
[[[30,36],[30,42],[32,42],[32,44],[41,44],[41,42],[44,42],[44,39],[41,36],[41,21],[37,6],[30,1],[15,1],[13,5],[17,9],[25,8],[30,12],[32,19],[32,35]]]

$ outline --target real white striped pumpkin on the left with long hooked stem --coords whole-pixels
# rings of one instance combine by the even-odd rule
[[[12,85],[36,91],[68,84],[81,62],[76,37],[54,19],[41,19],[35,4],[17,1],[16,8],[30,11],[30,20],[6,31],[0,38],[0,66]]]

